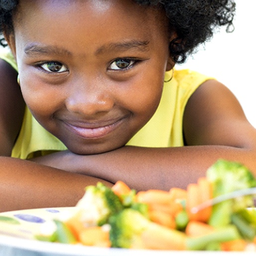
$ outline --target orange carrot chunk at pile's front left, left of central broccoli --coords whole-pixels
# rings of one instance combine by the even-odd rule
[[[86,246],[110,247],[109,232],[102,227],[88,227],[79,234],[79,240]]]

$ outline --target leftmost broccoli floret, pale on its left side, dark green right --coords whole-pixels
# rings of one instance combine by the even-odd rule
[[[81,222],[91,226],[104,225],[111,214],[123,209],[119,197],[101,182],[96,186],[87,186],[77,206],[81,208]]]

